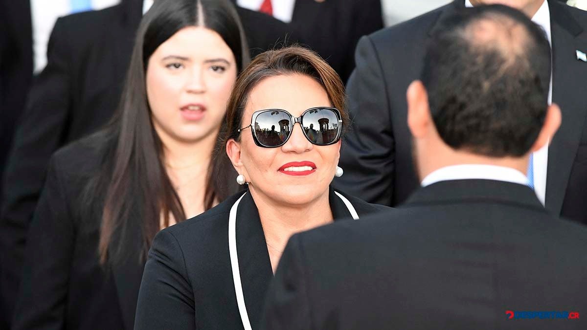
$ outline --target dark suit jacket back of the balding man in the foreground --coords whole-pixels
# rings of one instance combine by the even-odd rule
[[[587,307],[587,228],[526,186],[443,181],[363,220],[292,236],[261,329],[587,329],[507,319]]]

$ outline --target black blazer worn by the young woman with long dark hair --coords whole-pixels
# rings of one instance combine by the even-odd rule
[[[144,267],[140,228],[124,238],[127,260],[103,267],[98,255],[101,207],[88,208],[84,202],[86,185],[106,157],[102,144],[102,138],[90,136],[50,161],[30,225],[14,330],[133,328]]]

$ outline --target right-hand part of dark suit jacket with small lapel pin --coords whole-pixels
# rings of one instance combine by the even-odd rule
[[[548,2],[552,34],[552,102],[561,107],[562,123],[548,148],[546,209],[560,214],[587,113],[587,63],[576,58],[576,50],[587,52],[587,35],[565,5]]]

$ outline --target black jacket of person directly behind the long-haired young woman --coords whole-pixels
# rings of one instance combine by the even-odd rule
[[[48,65],[32,86],[5,172],[1,284],[6,306],[14,305],[22,270],[26,230],[41,193],[51,154],[95,132],[119,103],[143,1],[126,0],[101,11],[59,18]],[[237,8],[251,54],[272,48],[288,35],[286,24]],[[295,41],[295,38],[289,38]]]

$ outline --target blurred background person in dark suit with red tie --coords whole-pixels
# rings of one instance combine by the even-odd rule
[[[346,83],[359,38],[383,28],[380,0],[232,0],[289,23]]]

